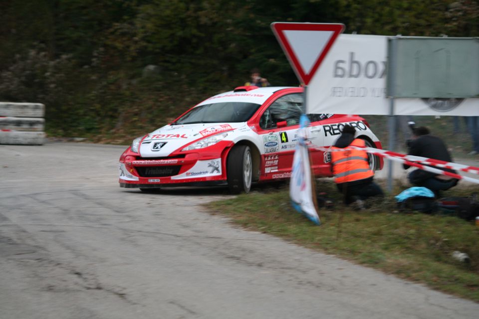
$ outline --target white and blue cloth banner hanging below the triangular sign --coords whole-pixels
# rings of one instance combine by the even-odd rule
[[[314,200],[316,189],[313,186],[311,167],[309,165],[307,140],[308,118],[303,114],[298,130],[298,143],[294,152],[291,180],[289,182],[289,196],[293,207],[308,217],[316,225],[320,224]],[[314,197],[313,197],[314,196]]]

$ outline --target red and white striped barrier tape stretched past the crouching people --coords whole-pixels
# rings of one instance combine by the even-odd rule
[[[468,165],[463,165],[463,164],[458,164],[458,163],[453,163],[453,162],[447,162],[447,161],[444,161],[444,160],[428,159],[428,158],[423,158],[423,157],[419,157],[419,156],[404,155],[404,154],[400,154],[400,153],[396,153],[396,152],[374,149],[374,148],[368,148],[368,147],[359,148],[359,147],[352,146],[352,147],[349,147],[349,148],[336,149],[336,150],[331,150],[330,148],[322,148],[322,147],[312,147],[312,148],[314,148],[316,150],[319,150],[319,151],[323,151],[323,152],[338,152],[338,151],[342,152],[342,151],[347,151],[347,150],[351,150],[351,149],[365,150],[368,153],[380,156],[382,158],[387,158],[389,160],[402,162],[406,165],[418,167],[420,169],[430,171],[432,173],[451,176],[451,177],[458,178],[458,179],[464,179],[464,180],[479,184],[479,179],[472,178],[472,177],[469,177],[469,176],[463,176],[463,175],[451,173],[449,171],[444,171],[444,170],[439,169],[439,168],[426,166],[424,164],[479,174],[479,167],[475,167],[475,166],[468,166]]]

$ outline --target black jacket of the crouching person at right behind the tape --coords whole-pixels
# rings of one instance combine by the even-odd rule
[[[421,135],[417,139],[413,140],[409,146],[408,155],[420,156],[428,159],[453,161],[451,154],[444,144],[443,140],[433,135]],[[403,164],[404,169],[408,169],[410,166]],[[432,166],[432,165],[428,165]],[[434,166],[432,166],[434,167]],[[448,168],[435,167],[452,173],[456,173],[455,170]],[[434,177],[438,174],[423,170],[424,179]]]

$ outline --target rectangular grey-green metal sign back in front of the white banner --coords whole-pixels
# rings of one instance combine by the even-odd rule
[[[479,97],[479,38],[389,38],[388,62],[389,97]]]

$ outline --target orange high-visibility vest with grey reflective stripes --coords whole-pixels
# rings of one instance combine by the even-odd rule
[[[355,139],[350,146],[365,147],[366,143],[364,140]],[[331,150],[342,149],[332,147]],[[374,172],[369,168],[368,154],[363,150],[331,152],[331,163],[333,164],[334,181],[338,184],[365,179],[374,175]]]

